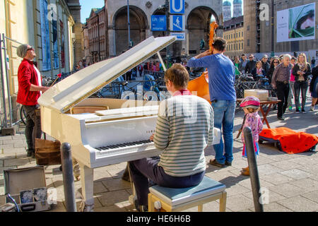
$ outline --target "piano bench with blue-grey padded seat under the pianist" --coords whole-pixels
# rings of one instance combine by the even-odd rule
[[[161,203],[161,208],[167,212],[178,212],[198,206],[203,211],[203,204],[220,199],[220,212],[225,212],[226,186],[204,176],[196,186],[184,189],[172,189],[163,186],[151,186],[148,194],[148,210],[155,211],[155,202]]]

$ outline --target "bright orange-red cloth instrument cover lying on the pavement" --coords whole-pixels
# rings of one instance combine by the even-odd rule
[[[259,136],[279,141],[282,150],[288,154],[302,153],[318,143],[317,136],[305,132],[295,132],[286,127],[263,129]]]

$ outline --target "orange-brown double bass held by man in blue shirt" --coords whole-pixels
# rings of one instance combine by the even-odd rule
[[[213,53],[213,37],[215,35],[214,31],[216,28],[218,28],[218,24],[213,21],[210,24],[210,38],[208,40],[210,54]],[[189,81],[188,90],[194,93],[194,95],[204,98],[211,104],[210,93],[208,92],[208,71],[204,71],[199,78]]]

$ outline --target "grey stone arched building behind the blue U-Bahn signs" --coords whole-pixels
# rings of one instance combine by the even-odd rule
[[[165,32],[151,31],[151,16],[165,14],[163,5],[165,0],[129,1],[130,36],[134,45],[142,42],[150,36],[163,36]],[[179,56],[182,52],[194,55],[200,52],[200,40],[204,39],[208,48],[208,32],[211,17],[218,24],[222,18],[223,1],[201,0],[186,1],[185,3],[185,40],[177,41],[170,46],[172,56]],[[128,49],[128,25],[127,25],[127,1],[105,0],[105,11],[107,14],[107,35],[109,56],[114,57]],[[222,36],[222,29],[218,35]],[[170,54],[170,53],[169,53]]]

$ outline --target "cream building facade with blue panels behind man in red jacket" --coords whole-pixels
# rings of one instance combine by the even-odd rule
[[[44,24],[47,35],[43,32]],[[22,59],[16,55],[16,48],[20,43],[28,43],[35,48],[35,61],[42,75],[54,78],[59,73],[73,71],[74,24],[66,0],[1,1],[0,33],[16,40],[6,39],[11,95],[18,92],[17,71]],[[43,55],[44,48],[48,55]]]

